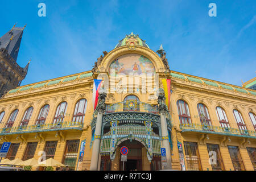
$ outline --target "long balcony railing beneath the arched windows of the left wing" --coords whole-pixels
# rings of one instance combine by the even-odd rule
[[[42,125],[28,125],[0,129],[0,135],[10,135],[19,133],[36,133],[43,131],[56,131],[56,130],[81,130],[84,123],[82,122],[57,122],[46,123]]]

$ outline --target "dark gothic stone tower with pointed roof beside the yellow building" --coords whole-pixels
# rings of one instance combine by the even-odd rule
[[[14,26],[0,38],[0,97],[19,86],[27,75],[29,63],[25,68],[16,63],[23,30]]]

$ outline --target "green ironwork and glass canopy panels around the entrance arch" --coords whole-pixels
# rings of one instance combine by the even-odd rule
[[[115,137],[118,139],[128,137],[133,135],[133,137],[140,138],[144,140],[145,143],[148,137],[151,138],[152,153],[160,154],[160,137],[151,131],[151,135],[147,135],[147,129],[144,126],[118,126],[116,130]],[[102,136],[101,140],[101,152],[110,152],[112,144],[112,131],[110,131]]]

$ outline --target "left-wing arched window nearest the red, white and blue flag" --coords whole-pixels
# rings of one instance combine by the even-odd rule
[[[73,122],[84,122],[86,107],[87,101],[84,98],[77,102],[75,112],[73,115]]]

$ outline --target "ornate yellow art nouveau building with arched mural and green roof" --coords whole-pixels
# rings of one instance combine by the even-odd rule
[[[94,110],[96,78],[104,80],[105,92]],[[162,92],[166,78],[169,109]],[[9,159],[39,159],[45,152],[75,170],[122,170],[122,146],[129,148],[126,170],[256,170],[255,95],[252,89],[170,71],[163,55],[130,34],[104,52],[92,71],[5,94],[0,145],[12,143]]]

